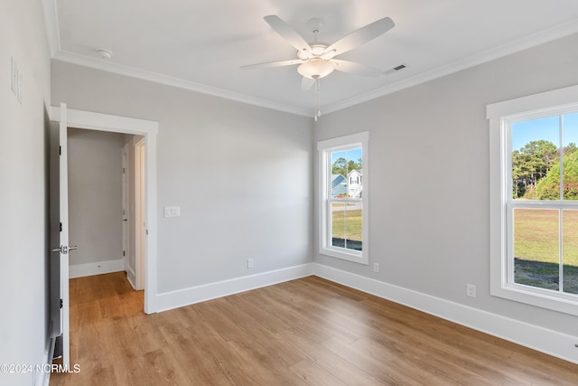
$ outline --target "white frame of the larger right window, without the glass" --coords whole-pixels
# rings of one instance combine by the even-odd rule
[[[510,125],[514,122],[578,111],[578,86],[556,89],[487,106],[489,119],[490,294],[532,306],[578,315],[578,297],[514,283],[508,250],[513,249],[514,208],[578,209],[578,202],[512,199]]]

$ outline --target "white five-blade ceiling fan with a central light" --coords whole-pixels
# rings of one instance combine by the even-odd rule
[[[311,19],[307,24],[312,27],[314,42],[306,42],[293,27],[286,24],[276,15],[268,15],[264,20],[276,33],[279,33],[287,42],[297,49],[297,58],[288,61],[272,61],[267,63],[251,64],[242,66],[242,69],[259,69],[291,66],[299,64],[297,72],[303,75],[301,89],[311,89],[320,79],[331,74],[334,70],[349,72],[363,76],[377,77],[383,73],[376,68],[355,61],[343,61],[335,59],[341,53],[348,52],[361,44],[369,42],[383,33],[387,33],[396,24],[389,18],[384,17],[376,22],[359,28],[331,45],[318,42],[317,34],[322,27],[321,19]]]

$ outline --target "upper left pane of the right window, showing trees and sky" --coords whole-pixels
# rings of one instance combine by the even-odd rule
[[[548,172],[556,165],[558,157],[560,119],[548,117],[514,123],[511,136],[513,197],[559,200],[560,169],[558,167],[557,180],[555,174]]]

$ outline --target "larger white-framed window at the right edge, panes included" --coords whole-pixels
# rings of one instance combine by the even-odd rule
[[[578,87],[488,118],[491,293],[578,315]]]

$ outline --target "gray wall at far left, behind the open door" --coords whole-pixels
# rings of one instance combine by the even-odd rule
[[[0,11],[0,363],[42,363],[49,341],[48,137],[50,55],[39,1]],[[22,104],[11,58],[22,72]],[[0,372],[0,384],[30,385],[33,373]]]

